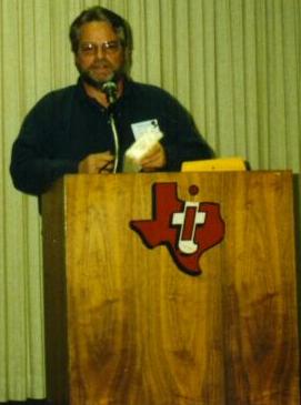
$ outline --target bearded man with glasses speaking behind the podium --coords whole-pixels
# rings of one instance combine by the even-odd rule
[[[127,21],[92,7],[73,21],[70,40],[79,81],[47,94],[27,115],[12,148],[17,189],[40,195],[67,173],[122,172],[124,152],[153,124],[163,138],[140,160],[141,171],[179,171],[183,161],[212,158],[174,98],[130,79]]]

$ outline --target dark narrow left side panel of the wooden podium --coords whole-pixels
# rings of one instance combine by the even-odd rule
[[[47,392],[69,404],[63,181],[42,199],[44,335]]]

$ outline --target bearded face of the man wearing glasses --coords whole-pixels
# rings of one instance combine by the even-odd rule
[[[76,65],[83,79],[98,88],[123,73],[124,50],[108,22],[92,21],[81,27]]]

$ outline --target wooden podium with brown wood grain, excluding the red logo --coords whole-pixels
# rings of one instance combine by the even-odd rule
[[[200,275],[130,226],[161,183],[220,206]],[[51,404],[300,404],[290,172],[68,175],[42,220]]]

